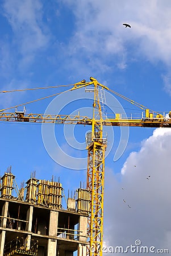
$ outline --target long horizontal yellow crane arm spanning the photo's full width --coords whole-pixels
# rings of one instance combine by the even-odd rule
[[[0,113],[1,121],[36,122],[36,123],[68,123],[81,125],[105,126],[139,126],[139,127],[171,127],[171,118],[142,118],[142,119],[91,119],[81,115],[44,115],[44,114],[25,114],[16,115],[15,113]],[[102,130],[102,129],[101,129]],[[94,134],[94,130],[93,130]]]

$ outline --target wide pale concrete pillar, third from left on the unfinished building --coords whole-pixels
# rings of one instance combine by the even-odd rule
[[[54,239],[49,238],[48,240],[47,256],[56,256],[57,240],[55,238],[57,237],[58,216],[58,212],[51,210],[49,220],[49,236],[54,237]]]

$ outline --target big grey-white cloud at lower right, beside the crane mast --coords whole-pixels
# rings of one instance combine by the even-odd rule
[[[126,248],[139,239],[143,246],[171,250],[170,141],[171,129],[156,129],[139,152],[130,154],[119,179],[106,170],[108,246]]]

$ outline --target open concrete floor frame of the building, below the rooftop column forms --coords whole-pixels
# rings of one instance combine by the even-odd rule
[[[0,256],[9,253],[6,245],[11,241],[13,247],[22,241],[25,250],[38,241],[35,256],[73,256],[77,250],[84,256],[87,216],[76,211],[75,200],[68,203],[68,210],[61,210],[0,197]]]

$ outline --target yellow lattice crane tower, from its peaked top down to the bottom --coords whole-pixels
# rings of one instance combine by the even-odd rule
[[[105,174],[105,150],[106,138],[103,138],[103,117],[99,100],[99,86],[106,86],[90,77],[88,84],[94,85],[93,118],[90,141],[87,143],[87,189],[90,191],[90,217],[88,219],[87,235],[90,237],[90,247],[87,253],[90,256],[102,256],[103,243],[103,201],[104,201],[104,174]],[[75,85],[74,89],[80,88]]]

